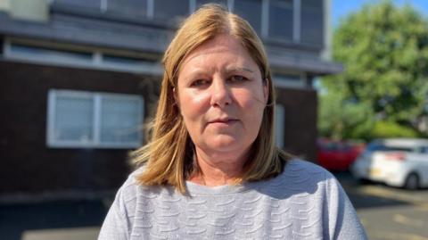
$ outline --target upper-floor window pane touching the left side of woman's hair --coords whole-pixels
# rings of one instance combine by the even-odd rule
[[[156,0],[154,4],[154,19],[161,21],[181,21],[189,14],[189,1]]]

